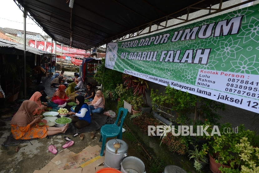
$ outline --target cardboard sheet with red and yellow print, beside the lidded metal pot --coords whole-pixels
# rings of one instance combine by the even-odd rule
[[[104,162],[104,157],[100,156],[101,147],[95,145],[94,147],[86,148],[82,152],[72,156],[78,166],[99,166]]]

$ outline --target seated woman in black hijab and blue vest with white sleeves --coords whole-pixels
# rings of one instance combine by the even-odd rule
[[[69,116],[69,118],[72,119],[72,122],[76,122],[75,127],[82,128],[91,123],[90,110],[88,105],[84,103],[84,96],[76,96],[75,99],[77,104],[75,107],[75,112],[68,112],[68,114],[72,115]]]

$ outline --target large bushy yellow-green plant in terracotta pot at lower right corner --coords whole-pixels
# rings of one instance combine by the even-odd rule
[[[226,132],[226,129],[231,131]],[[253,172],[259,170],[259,137],[255,132],[245,130],[244,125],[232,130],[226,123],[209,142],[210,169],[213,172]],[[254,148],[254,149],[253,149]],[[248,170],[248,171],[247,171]]]

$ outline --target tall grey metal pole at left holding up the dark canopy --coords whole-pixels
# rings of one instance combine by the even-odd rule
[[[24,99],[27,99],[26,94],[26,17],[27,17],[27,9],[26,7],[23,8],[23,72],[24,72]]]

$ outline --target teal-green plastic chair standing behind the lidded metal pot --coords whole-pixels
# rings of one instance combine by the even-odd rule
[[[123,111],[123,115],[120,119],[121,111]],[[102,149],[100,152],[100,156],[103,156],[106,138],[112,138],[112,137],[117,136],[117,139],[122,139],[122,125],[123,125],[123,122],[124,122],[124,119],[125,119],[127,113],[128,113],[128,109],[120,108],[116,122],[114,124],[105,124],[101,127],[101,132],[100,132],[101,137],[100,137],[99,142],[102,141],[102,138],[103,138],[103,142],[102,142]],[[118,126],[119,119],[120,119],[120,127]]]

